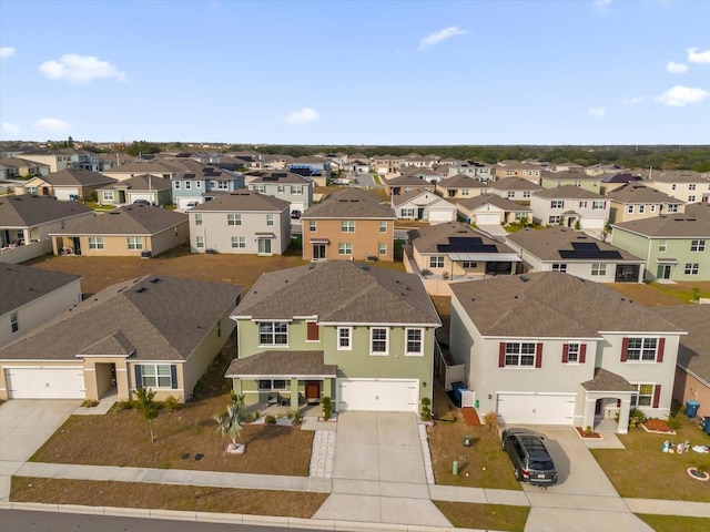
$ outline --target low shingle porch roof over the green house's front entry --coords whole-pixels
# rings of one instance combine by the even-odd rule
[[[224,377],[335,377],[336,369],[323,364],[323,351],[263,351],[232,360]]]

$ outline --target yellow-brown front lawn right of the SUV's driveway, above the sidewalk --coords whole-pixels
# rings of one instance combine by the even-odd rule
[[[710,454],[692,450],[671,454],[661,450],[666,440],[676,444],[688,440],[691,446],[710,446],[710,436],[683,415],[676,419],[680,423],[676,436],[635,428],[629,429],[628,434],[618,434],[626,449],[591,450],[621,497],[710,502],[708,482],[693,480],[686,472],[687,468],[698,466],[709,471]]]

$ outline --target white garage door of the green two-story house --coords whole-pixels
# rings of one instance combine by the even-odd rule
[[[416,412],[418,380],[338,379],[337,411]]]

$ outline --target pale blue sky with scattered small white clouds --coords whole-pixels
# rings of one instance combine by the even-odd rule
[[[710,144],[710,1],[0,1],[0,139]]]

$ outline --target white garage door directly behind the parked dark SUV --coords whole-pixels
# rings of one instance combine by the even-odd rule
[[[498,416],[506,424],[572,424],[575,396],[498,393]]]

